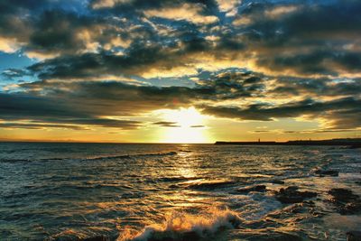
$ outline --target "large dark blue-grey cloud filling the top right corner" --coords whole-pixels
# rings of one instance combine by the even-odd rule
[[[294,5],[283,5],[294,7],[291,13],[282,13],[282,9],[277,13],[277,7],[281,9],[282,5],[265,2],[243,10],[242,14],[252,19],[246,26],[244,41],[248,42],[248,50],[257,51],[257,65],[301,75],[337,76],[341,70],[361,70],[361,51],[347,48],[361,37],[361,17],[357,14],[361,2],[302,5],[296,1]],[[267,17],[267,13],[271,16]]]

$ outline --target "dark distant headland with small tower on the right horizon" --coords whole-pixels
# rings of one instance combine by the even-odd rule
[[[295,140],[287,142],[216,142],[215,144],[238,144],[238,145],[347,145],[351,148],[361,148],[361,138],[339,138],[329,140]]]

